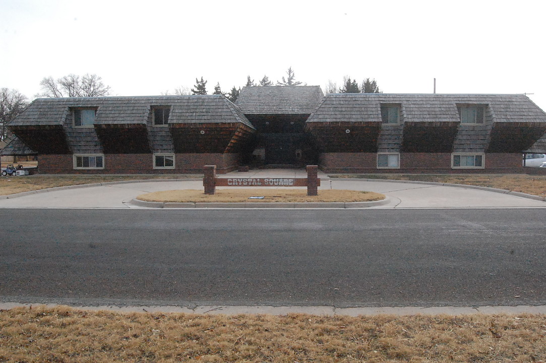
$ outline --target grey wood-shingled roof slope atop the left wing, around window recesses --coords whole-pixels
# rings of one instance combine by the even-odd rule
[[[146,124],[151,106],[171,106],[169,123],[252,124],[224,96],[150,96],[40,98],[34,100],[9,126],[64,124],[69,108],[96,107],[96,124]]]

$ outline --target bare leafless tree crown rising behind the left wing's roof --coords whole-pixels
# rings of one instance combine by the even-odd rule
[[[37,97],[101,97],[110,94],[110,86],[106,86],[100,76],[89,73],[81,77],[71,73],[57,80],[45,77],[40,86],[42,92]]]

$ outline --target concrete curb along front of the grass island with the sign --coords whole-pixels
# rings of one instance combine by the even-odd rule
[[[159,202],[159,201],[144,201],[139,199],[133,199],[129,204],[133,204],[139,207],[145,208],[198,208],[198,209],[271,209],[271,208],[283,208],[283,209],[358,209],[369,208],[379,205],[388,204],[390,202],[389,197],[385,197],[383,200],[375,201],[357,201],[357,202],[309,202],[309,203],[268,203],[268,202],[242,202],[242,203],[172,203],[172,202]]]

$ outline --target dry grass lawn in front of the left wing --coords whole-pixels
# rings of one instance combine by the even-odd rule
[[[0,177],[0,195],[37,191],[38,189],[127,180],[170,179],[197,176],[180,175],[28,175]],[[202,177],[202,175],[201,175]]]

